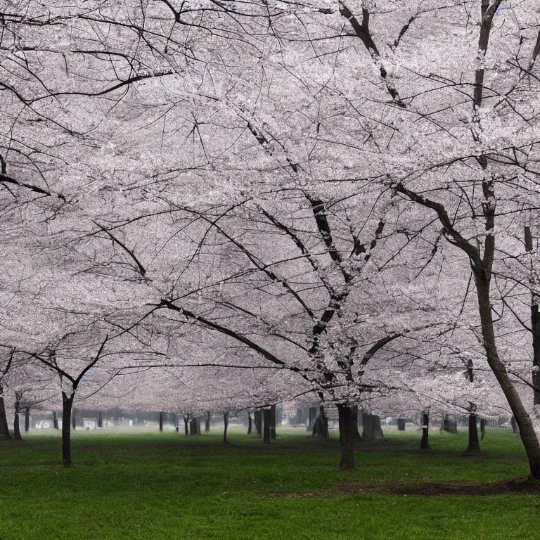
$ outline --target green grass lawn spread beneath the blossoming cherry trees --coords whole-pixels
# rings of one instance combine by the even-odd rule
[[[338,482],[493,481],[527,475],[519,437],[487,430],[484,456],[465,457],[466,434],[387,432],[359,445],[356,471],[338,470],[330,442],[278,431],[265,446],[230,430],[200,437],[76,432],[75,468],[60,465],[60,438],[0,442],[0,540],[539,539],[540,498],[344,495]],[[276,496],[283,493],[284,496]],[[297,497],[294,494],[306,494]],[[311,495],[309,495],[311,494]]]

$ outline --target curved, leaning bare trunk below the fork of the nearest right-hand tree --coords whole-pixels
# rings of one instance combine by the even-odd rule
[[[485,271],[488,274],[487,270]],[[493,318],[491,314],[491,302],[489,298],[489,284],[491,272],[487,276],[482,276],[480,271],[475,271],[475,283],[480,311],[480,321],[482,323],[482,338],[484,349],[486,350],[487,361],[491,371],[499,381],[508,405],[513,412],[515,421],[520,428],[520,437],[527,452],[529,460],[530,475],[532,480],[540,480],[540,444],[531,418],[522,404],[520,394],[515,389],[506,367],[499,359],[497,351],[495,333],[493,328]]]

